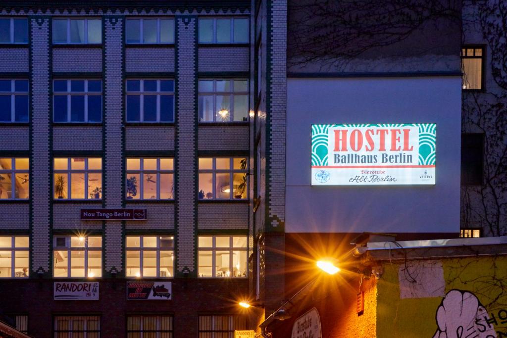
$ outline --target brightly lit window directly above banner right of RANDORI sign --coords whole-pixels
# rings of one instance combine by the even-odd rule
[[[127,277],[172,277],[173,236],[127,236]]]

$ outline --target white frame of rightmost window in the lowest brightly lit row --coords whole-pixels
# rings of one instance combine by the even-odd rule
[[[228,247],[218,247],[216,246],[216,238],[229,238],[229,246]],[[246,240],[245,247],[235,247],[234,246],[234,237],[244,237]],[[212,238],[211,246],[200,246],[199,238]],[[199,269],[199,256],[201,251],[211,251],[211,275],[212,276],[200,276]],[[234,270],[233,266],[233,254],[234,251],[243,251],[245,252],[246,259],[243,262],[245,265],[245,276],[217,276],[216,275],[216,252],[217,251],[228,251],[229,252],[229,271]],[[246,235],[198,235],[197,236],[197,277],[198,278],[248,278],[248,237]]]

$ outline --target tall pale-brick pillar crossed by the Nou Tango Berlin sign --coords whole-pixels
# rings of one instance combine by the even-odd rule
[[[104,207],[121,208],[123,204],[123,17],[104,18]],[[105,222],[105,271],[122,268],[122,222]]]

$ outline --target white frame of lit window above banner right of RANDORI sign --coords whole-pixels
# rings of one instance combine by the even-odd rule
[[[127,237],[138,237],[139,238],[139,246],[127,246]],[[144,238],[145,237],[156,237],[157,238],[157,246],[153,247],[149,247],[149,246],[144,246]],[[161,237],[171,237],[172,239],[172,246],[170,247],[162,247],[161,246]],[[128,265],[127,265],[127,252],[128,251],[138,251],[139,252],[139,276],[130,276],[130,275],[127,275],[127,269],[128,268]],[[143,264],[143,253],[144,251],[155,251],[157,253],[157,267],[156,267],[156,271],[157,271],[157,276],[143,276],[143,269],[144,269],[144,264]],[[171,260],[172,260],[172,272],[169,272],[169,276],[160,276],[160,252],[161,251],[171,251]],[[170,278],[174,278],[174,235],[160,235],[160,234],[156,234],[156,235],[126,235],[125,236],[125,278],[143,278],[143,279],[146,279],[146,278],[167,278],[167,279],[170,279]]]

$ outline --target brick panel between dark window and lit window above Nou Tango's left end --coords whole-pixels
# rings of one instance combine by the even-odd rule
[[[54,126],[53,150],[101,151],[102,127]]]

